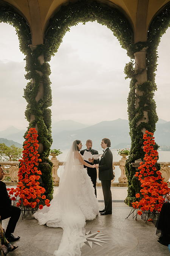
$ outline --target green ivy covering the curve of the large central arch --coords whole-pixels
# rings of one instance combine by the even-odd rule
[[[77,25],[79,22],[86,23],[94,20],[113,31],[113,35],[117,37],[124,49],[128,49],[129,44],[133,44],[133,25],[123,11],[96,1],[68,3],[57,9],[46,25],[44,43],[50,48],[51,55],[57,52],[69,27]],[[51,41],[53,41],[52,44]]]

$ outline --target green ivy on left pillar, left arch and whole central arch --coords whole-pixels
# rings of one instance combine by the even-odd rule
[[[8,9],[8,11],[7,11]],[[43,144],[43,152],[40,154],[42,163],[39,165],[42,172],[42,183],[46,190],[46,198],[52,199],[53,179],[52,166],[48,156],[52,144],[51,137],[51,110],[48,107],[52,104],[51,88],[50,88],[50,67],[47,63],[51,56],[54,55],[62,42],[62,38],[70,27],[77,25],[79,22],[95,21],[102,25],[106,25],[113,31],[122,47],[127,49],[132,42],[132,29],[130,23],[117,9],[101,5],[97,2],[87,3],[86,1],[78,1],[62,6],[60,11],[54,15],[49,21],[48,29],[45,33],[45,43],[38,45],[33,51],[30,49],[31,33],[26,21],[19,16],[12,7],[6,6],[1,8],[0,20],[13,25],[17,31],[20,41],[20,49],[26,54],[26,79],[29,81],[24,89],[24,97],[28,102],[25,116],[29,122],[28,130],[24,138],[26,138],[30,128],[38,126],[39,143]],[[40,64],[38,57],[43,55],[44,63]],[[36,102],[36,96],[39,91],[40,82],[43,83],[44,96]],[[34,115],[34,121],[31,122],[31,115]]]

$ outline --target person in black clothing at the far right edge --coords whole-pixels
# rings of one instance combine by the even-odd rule
[[[170,195],[167,196],[170,200]],[[156,222],[156,235],[159,236],[158,242],[162,245],[168,246],[170,243],[170,203],[165,202],[162,205],[162,209],[159,218]]]

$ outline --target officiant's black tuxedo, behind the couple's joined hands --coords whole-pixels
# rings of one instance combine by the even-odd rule
[[[83,149],[83,150],[81,150],[81,151],[80,151],[80,154],[83,155],[83,154],[84,154],[84,151],[88,151],[88,149]],[[92,154],[92,155],[98,155],[99,153],[98,153],[97,150],[91,149],[91,154]],[[90,163],[90,162],[88,162],[88,161],[85,161],[85,162],[87,162],[87,163],[90,164],[90,165],[94,165],[94,164],[99,163],[99,159],[98,159],[98,160],[94,160],[94,163]],[[97,197],[97,193],[96,193],[97,170],[96,170],[96,168],[90,168],[90,167],[87,167],[87,166],[85,166],[85,165],[84,165],[84,168],[87,168],[88,176],[90,176],[91,181],[93,182],[94,193],[95,193],[95,195],[96,195],[96,197]]]

